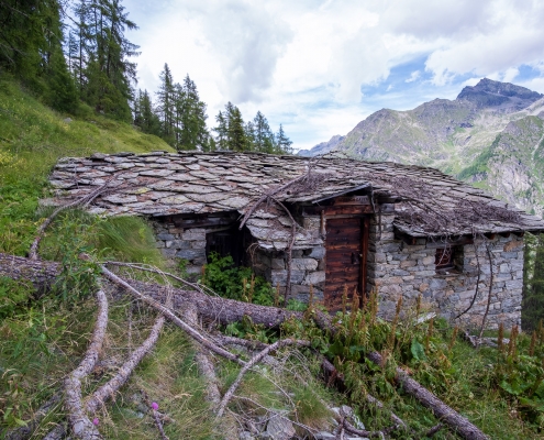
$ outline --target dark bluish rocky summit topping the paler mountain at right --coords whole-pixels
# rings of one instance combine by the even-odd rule
[[[457,99],[474,102],[477,107],[501,107],[513,111],[529,107],[544,95],[510,82],[482,78],[476,86],[465,87]]]

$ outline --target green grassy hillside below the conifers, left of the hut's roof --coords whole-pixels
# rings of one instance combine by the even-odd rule
[[[82,110],[78,119],[59,114],[0,76],[0,252],[29,250],[37,200],[46,195],[46,177],[59,157],[173,151],[154,135]]]

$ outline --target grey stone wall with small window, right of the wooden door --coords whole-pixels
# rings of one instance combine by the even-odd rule
[[[380,298],[380,314],[395,312],[400,295],[403,304],[413,304],[421,294],[424,302],[445,318],[453,319],[464,311],[476,293],[478,262],[475,246],[467,244],[456,250],[456,267],[436,271],[437,243],[419,239],[414,245],[395,240],[393,216],[381,217],[381,233],[371,222],[368,255],[368,285],[376,287]],[[497,328],[521,323],[523,287],[523,239],[515,235],[498,237],[488,241],[492,255],[491,267],[482,241],[477,244],[480,262],[478,295],[471,309],[460,318],[463,324],[478,327],[486,311],[491,284],[491,304],[487,326]]]

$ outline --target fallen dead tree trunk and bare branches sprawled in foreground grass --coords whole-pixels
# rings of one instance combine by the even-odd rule
[[[30,279],[36,287],[40,287],[42,289],[44,288],[44,284],[51,283],[51,279],[58,275],[60,267],[56,263],[43,261],[35,262],[23,257],[0,254],[0,275],[9,276],[15,279]],[[255,306],[235,300],[210,297],[200,292],[180,290],[169,286],[159,286],[142,282],[125,280],[120,276],[111,273],[103,266],[101,266],[101,271],[104,283],[107,283],[108,280],[110,283],[113,283],[113,285],[118,286],[124,292],[127,292],[130,295],[159,311],[160,316],[155,322],[155,326],[148,339],[142,344],[141,349],[135,350],[132,353],[131,358],[120,369],[118,375],[115,375],[109,383],[95,392],[91,399],[89,399],[88,403],[84,406],[81,404],[80,392],[78,393],[78,389],[80,389],[78,388],[78,381],[80,381],[82,377],[85,377],[86,374],[88,374],[89,366],[96,363],[96,359],[98,359],[96,353],[98,353],[98,344],[100,342],[99,332],[102,328],[102,324],[99,323],[99,321],[102,322],[104,316],[104,311],[101,308],[101,311],[99,312],[99,319],[97,320],[96,333],[98,336],[93,336],[92,342],[88,349],[86,356],[84,358],[84,361],[81,361],[80,366],[74,373],[71,373],[71,375],[66,381],[67,393],[65,405],[67,406],[69,413],[68,419],[70,420],[71,430],[78,438],[99,438],[97,436],[100,436],[100,433],[97,432],[97,427],[93,426],[92,422],[90,422],[88,415],[92,414],[99,407],[101,407],[104,404],[106,399],[113,395],[122,386],[122,384],[130,376],[140,360],[149,352],[156,339],[158,338],[158,333],[160,331],[160,328],[163,327],[163,321],[165,318],[181,328],[185,332],[187,332],[187,334],[193,338],[197,343],[206,346],[206,349],[210,350],[217,355],[220,355],[224,359],[242,365],[243,369],[238,374],[238,378],[222,397],[218,415],[222,415],[224,413],[229,400],[234,397],[235,389],[240,384],[243,374],[257,362],[260,362],[263,359],[265,359],[269,352],[285,344],[310,344],[309,341],[280,340],[276,344],[265,346],[258,354],[253,356],[251,361],[245,362],[240,358],[240,355],[233,354],[229,350],[220,346],[220,340],[214,341],[211,337],[201,334],[192,326],[182,321],[177,316],[175,310],[187,307],[188,301],[190,301],[190,306],[195,307],[199,316],[209,319],[210,321],[220,321],[225,323],[241,320],[245,314],[251,316],[254,321],[269,323],[270,326],[279,324],[286,319],[292,317],[296,317],[298,319],[302,319],[303,317],[300,314],[289,312],[285,309]],[[169,304],[170,300],[171,305]],[[210,304],[212,304],[212,307],[210,307]],[[243,310],[242,314],[240,310]],[[317,323],[319,327],[331,332],[335,331],[330,317],[320,317],[319,314],[315,314],[315,316],[318,317]],[[367,358],[377,365],[382,365],[382,358],[379,353],[369,353]],[[397,369],[397,381],[407,393],[415,397],[424,406],[431,408],[431,410],[436,415],[436,417],[438,417],[441,421],[446,424],[453,431],[459,433],[463,438],[475,440],[487,439],[487,436],[485,436],[478,428],[470,424],[466,418],[462,417],[454,409],[437,399],[436,396],[434,396],[419,383],[410,378],[408,374],[401,369]],[[402,420],[397,417],[392,417],[392,419],[398,425],[403,424]],[[342,429],[349,431],[352,427],[348,424],[346,425],[343,422]],[[62,427],[59,427],[58,429],[56,428],[55,432],[60,432],[59,436],[62,436],[64,429]],[[354,431],[352,430],[351,432]],[[48,435],[48,438],[62,438],[54,436],[54,432],[51,432]]]

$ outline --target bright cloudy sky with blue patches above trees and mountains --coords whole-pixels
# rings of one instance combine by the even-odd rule
[[[542,0],[124,0],[140,26],[138,87],[168,63],[208,123],[227,101],[260,110],[297,148],[381,108],[454,99],[480,78],[544,92]]]

